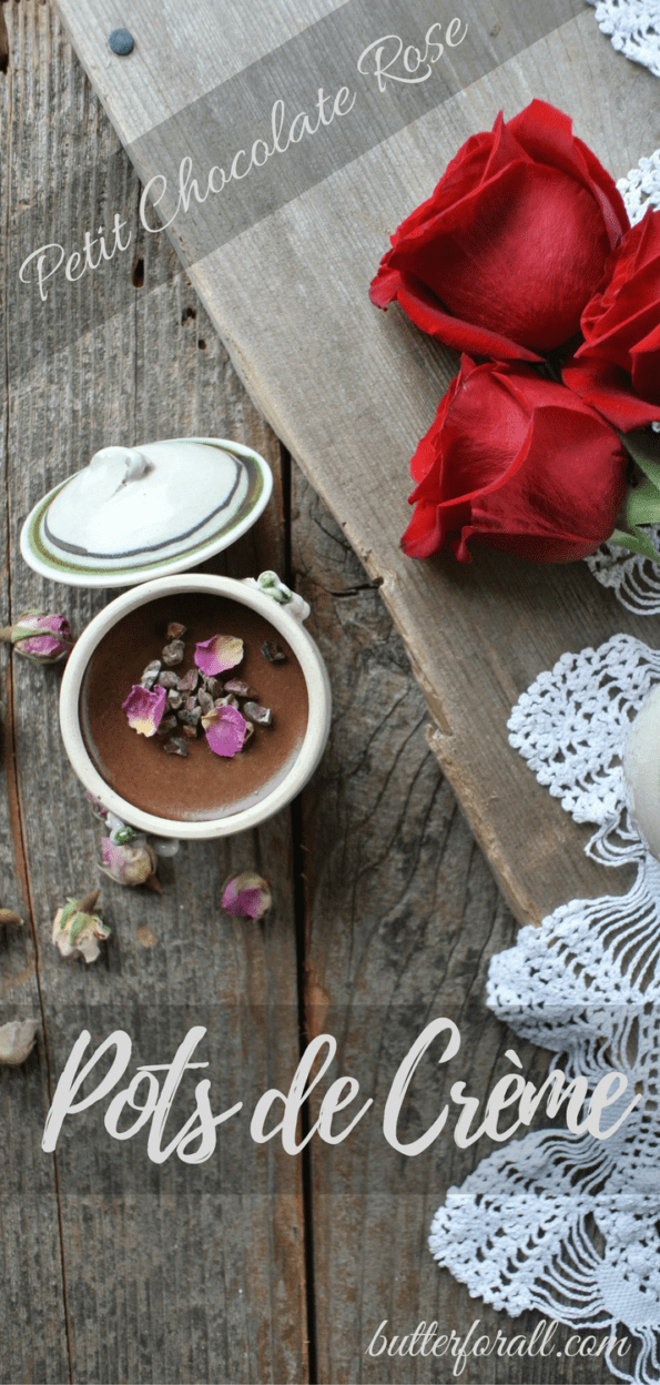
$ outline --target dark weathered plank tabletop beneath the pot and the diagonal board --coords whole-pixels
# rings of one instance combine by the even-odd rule
[[[111,8],[109,22],[120,22]],[[311,0],[289,8],[277,12],[292,32],[300,15],[317,14]],[[214,7],[206,11],[212,24]],[[483,1096],[499,1075],[511,1036],[484,1007],[484,979],[493,951],[511,946],[515,921],[429,752],[426,704],[382,602],[378,562],[371,555],[365,571],[346,530],[291,465],[172,249],[140,235],[137,176],[53,7],[7,0],[0,17],[3,622],[39,604],[66,609],[80,630],[105,602],[104,593],[42,582],[18,551],[29,507],[97,446],[234,436],[267,456],[277,494],[216,568],[246,575],[273,565],[295,580],[313,604],[310,627],[335,701],[331,744],[303,801],[249,837],[188,845],[162,864],[156,897],[100,874],[100,828],[59,741],[58,669],[35,669],[0,650],[10,708],[0,902],[26,918],[24,929],[0,933],[0,1022],[40,1019],[28,1062],[0,1068],[0,1379],[450,1385],[444,1361],[369,1360],[379,1323],[401,1334],[439,1320],[465,1334],[480,1317],[484,1331],[511,1334],[531,1332],[535,1317],[512,1324],[484,1309],[426,1248],[447,1186],[490,1143],[459,1152],[443,1140],[428,1156],[404,1161],[385,1144],[382,1105],[397,1062],[436,1014],[459,1022],[470,1090]],[[73,249],[82,230],[107,224],[115,211],[136,235],[130,263],[105,263],[28,310],[17,277],[25,255],[51,234]],[[404,330],[387,323],[379,319],[381,330]],[[426,346],[411,334],[408,342],[422,374],[429,363],[433,374]],[[498,571],[491,615],[506,596],[508,569]],[[466,612],[482,609],[480,579],[437,580],[464,593],[468,629]],[[540,619],[544,589],[535,590],[530,609]],[[589,594],[595,607],[606,600],[585,583]],[[524,602],[509,600],[520,620]],[[558,611],[576,620],[584,643],[569,597]],[[610,620],[618,627],[618,608]],[[562,626],[558,652],[563,636]],[[502,627],[499,638],[504,711],[534,656],[520,648],[519,629]],[[246,928],[223,917],[219,897],[230,870],[252,864],[271,881],[275,909]],[[111,940],[93,967],[66,964],[50,942],[51,917],[65,895],[97,884]],[[123,1028],[136,1058],[165,1062],[192,1024],[208,1025],[214,1109],[250,1102],[268,1086],[286,1089],[300,1047],[329,1032],[338,1071],[374,1097],[369,1119],[346,1145],[314,1143],[300,1159],[275,1143],[257,1151],[237,1127],[208,1165],[156,1168],[137,1140],[111,1145],[91,1108],[65,1126],[55,1156],[42,1154],[54,1082],[82,1028],[94,1040]],[[538,1078],[544,1054],[517,1040],[516,1048]],[[437,1071],[425,1071],[408,1137],[433,1119],[443,1093]],[[596,1360],[565,1361],[558,1377],[553,1360],[535,1359],[493,1370],[473,1361],[461,1378],[596,1385],[603,1373]]]

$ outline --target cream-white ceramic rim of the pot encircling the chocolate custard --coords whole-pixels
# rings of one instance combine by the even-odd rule
[[[259,803],[241,812],[209,819],[203,821],[176,821],[173,819],[156,817],[134,807],[119,794],[116,794],[101,778],[93,765],[84,745],[80,730],[79,701],[80,687],[87,663],[113,625],[122,620],[130,611],[155,601],[158,597],[172,596],[177,591],[203,591],[237,601],[241,605],[257,611],[273,629],[288,640],[304,674],[309,695],[309,723],[300,747],[300,752],[292,765],[288,776],[271,794]],[[188,573],[170,578],[158,578],[144,582],[123,596],[111,601],[83,630],[80,638],[69,655],[59,695],[59,724],[66,755],[84,788],[97,798],[105,809],[131,827],[155,837],[170,837],[181,839],[209,839],[213,837],[231,837],[234,832],[244,832],[257,827],[295,798],[307,784],[314,773],[329,734],[331,722],[331,688],[325,663],[318,652],[314,640],[303,627],[303,620],[309,615],[309,607],[300,597],[286,593],[274,573],[263,573],[259,582],[246,579],[237,582],[234,578],[214,578],[205,573]],[[281,604],[281,602],[286,604]]]

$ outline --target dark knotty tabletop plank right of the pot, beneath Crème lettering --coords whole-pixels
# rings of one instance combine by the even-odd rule
[[[429,1060],[415,1073],[400,1138],[430,1127],[461,1079],[484,1100],[506,1071],[513,1044],[540,1084],[548,1055],[522,1044],[486,1007],[493,953],[512,946],[516,925],[476,846],[450,785],[428,752],[426,708],[405,651],[342,529],[311,486],[293,486],[296,586],[313,602],[313,629],[328,661],[335,702],[331,744],[303,795],[307,1035],[338,1039],[338,1057],[315,1093],[350,1075],[374,1107],[345,1144],[313,1144],[313,1227],[318,1379],[333,1385],[450,1385],[454,1361],[367,1355],[383,1320],[400,1339],[419,1323],[465,1337],[531,1338],[538,1314],[512,1321],[446,1270],[428,1235],[447,1188],[461,1184],[495,1145],[458,1150],[448,1127],[407,1159],[382,1132],[394,1072],[425,1024],[451,1017],[461,1053],[447,1068]],[[342,1129],[336,1118],[333,1130]],[[544,1123],[542,1120],[540,1123]],[[570,1330],[560,1328],[556,1349]],[[378,1349],[378,1346],[376,1346]],[[559,1367],[559,1368],[558,1368]],[[601,1385],[601,1359],[468,1363],[472,1385]]]

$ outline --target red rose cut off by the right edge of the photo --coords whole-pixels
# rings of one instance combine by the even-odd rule
[[[623,432],[660,420],[660,212],[624,235],[581,327],[566,384]]]

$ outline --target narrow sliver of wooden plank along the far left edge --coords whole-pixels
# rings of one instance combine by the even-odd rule
[[[4,18],[4,10],[3,10]],[[3,44],[0,42],[0,50]],[[0,206],[7,208],[12,183],[12,144],[17,137],[14,57],[0,72]],[[10,510],[7,463],[11,446],[7,381],[7,298],[11,227],[3,217],[0,274],[0,625],[15,611],[7,561]],[[65,1292],[54,1158],[40,1152],[43,1122],[50,1105],[51,1055],[44,1037],[36,970],[37,938],[25,861],[17,784],[17,717],[11,656],[0,647],[0,701],[7,708],[0,726],[0,903],[24,917],[24,928],[0,928],[0,1025],[39,1019],[36,1047],[19,1068],[0,1066],[0,1122],[3,1132],[3,1198],[0,1245],[3,1312],[0,1314],[0,1379],[69,1379]]]

